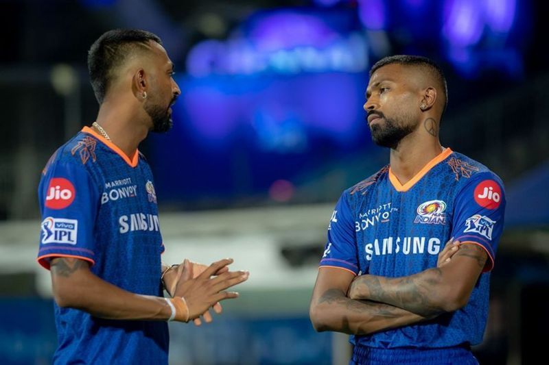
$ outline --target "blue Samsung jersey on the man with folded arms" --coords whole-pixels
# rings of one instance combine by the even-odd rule
[[[478,244],[488,260],[469,302],[436,320],[351,336],[377,348],[436,348],[478,344],[486,326],[489,271],[504,225],[500,178],[465,155],[445,149],[401,185],[382,168],[340,197],[328,227],[320,266],[355,275],[404,277],[436,267],[449,238]]]

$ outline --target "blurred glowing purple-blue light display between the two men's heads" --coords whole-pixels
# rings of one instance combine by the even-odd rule
[[[362,72],[368,64],[367,41],[358,30],[342,34],[322,18],[290,11],[250,23],[247,34],[195,45],[187,56],[189,75]]]

